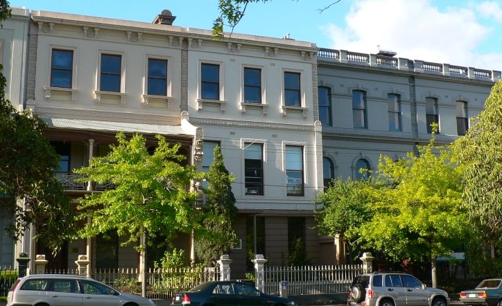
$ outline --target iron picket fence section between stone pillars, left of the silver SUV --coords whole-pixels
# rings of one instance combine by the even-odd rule
[[[267,294],[279,295],[280,282],[288,282],[288,295],[335,294],[349,291],[354,276],[363,273],[362,264],[304,267],[265,267]]]

